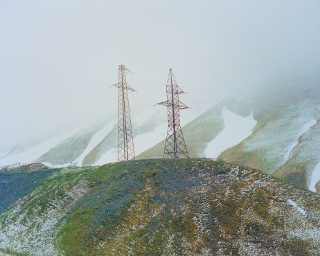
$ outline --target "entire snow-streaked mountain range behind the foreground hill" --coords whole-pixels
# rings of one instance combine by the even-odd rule
[[[320,81],[230,98],[181,120],[190,157],[245,165],[316,191],[320,180]],[[310,87],[311,86],[311,87]],[[270,96],[266,96],[270,95]],[[195,117],[195,118],[194,118]],[[162,158],[166,109],[132,115],[136,158]],[[103,165],[117,160],[116,120],[17,145],[0,165]]]

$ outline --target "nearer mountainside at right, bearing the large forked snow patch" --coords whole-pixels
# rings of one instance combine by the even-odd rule
[[[182,129],[190,157],[264,170],[314,191],[319,180],[320,91],[224,100]],[[161,141],[138,158],[161,158]]]

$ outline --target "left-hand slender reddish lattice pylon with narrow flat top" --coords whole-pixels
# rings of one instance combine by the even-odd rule
[[[135,158],[130,105],[127,91],[134,91],[127,85],[125,65],[119,66],[118,83],[118,161],[128,161]]]

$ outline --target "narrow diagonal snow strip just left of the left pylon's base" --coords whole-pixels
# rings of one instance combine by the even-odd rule
[[[108,122],[107,125],[105,125],[105,127],[100,129],[100,131],[97,131],[96,134],[92,136],[86,149],[77,159],[75,159],[75,161],[73,161],[73,163],[75,163],[75,165],[77,166],[82,166],[82,161],[87,156],[87,154],[89,154],[101,142],[101,140],[103,140],[105,136],[107,136],[112,131],[112,129],[114,129],[115,125],[116,119]]]

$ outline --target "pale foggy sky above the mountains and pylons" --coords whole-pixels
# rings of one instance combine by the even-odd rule
[[[320,74],[320,1],[0,0],[0,149],[116,115],[118,65],[132,116],[166,100],[204,111],[229,93],[193,93]],[[161,109],[160,106],[158,106]]]

